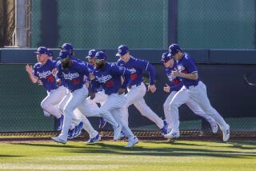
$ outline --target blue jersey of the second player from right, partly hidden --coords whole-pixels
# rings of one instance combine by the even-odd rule
[[[178,91],[182,88],[183,84],[180,81],[180,78],[175,78],[172,72],[176,69],[176,64],[171,68],[166,68],[166,75],[169,80],[168,85],[170,85],[170,92],[171,91]]]

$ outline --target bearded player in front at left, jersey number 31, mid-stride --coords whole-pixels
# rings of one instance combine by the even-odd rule
[[[58,74],[57,74],[57,84],[64,82],[67,89],[69,90],[70,96],[67,96],[62,100],[65,104],[64,112],[64,123],[62,127],[62,133],[58,137],[52,137],[54,141],[65,144],[68,137],[68,130],[73,117],[74,109],[78,108],[82,114],[86,116],[94,116],[99,114],[98,107],[91,107],[85,98],[88,95],[88,89],[84,85],[84,76],[89,77],[90,70],[86,63],[80,62],[75,58],[71,57],[71,54],[67,50],[62,50],[59,54],[61,58],[61,63],[58,63]],[[66,102],[63,102],[66,101]],[[62,104],[61,103],[61,104]],[[122,129],[121,125],[118,125],[112,116],[102,113],[102,117],[114,125],[115,136],[119,137]]]

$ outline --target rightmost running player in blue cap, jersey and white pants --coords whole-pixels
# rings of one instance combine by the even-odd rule
[[[223,133],[223,141],[228,141],[230,138],[230,125],[224,121],[223,117],[210,105],[207,97],[206,85],[198,78],[198,69],[195,66],[194,60],[189,54],[184,53],[177,44],[172,44],[169,47],[169,54],[177,62],[178,70],[172,72],[174,78],[180,78],[183,86],[182,89],[170,101],[170,113],[172,120],[172,129],[166,134],[166,138],[179,137],[179,122],[178,122],[178,107],[193,99],[198,102],[202,110],[213,117],[217,121]]]

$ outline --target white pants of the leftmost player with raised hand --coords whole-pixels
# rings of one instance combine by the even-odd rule
[[[41,102],[44,115],[49,116],[49,114],[52,114],[56,118],[61,117],[62,113],[58,109],[58,104],[62,101],[62,98],[65,97],[66,88],[60,86],[58,89],[53,89],[50,92],[47,91],[47,94],[48,95]]]

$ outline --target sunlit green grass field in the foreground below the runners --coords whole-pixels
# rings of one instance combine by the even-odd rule
[[[256,141],[0,143],[0,170],[256,170]]]

